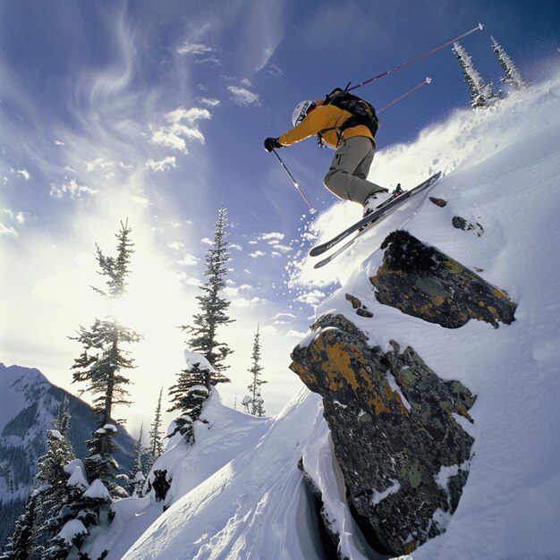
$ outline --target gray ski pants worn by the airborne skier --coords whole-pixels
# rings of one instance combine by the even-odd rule
[[[359,204],[363,204],[374,192],[386,191],[375,182],[366,180],[374,155],[373,142],[367,136],[341,140],[323,180],[327,189],[339,199]]]

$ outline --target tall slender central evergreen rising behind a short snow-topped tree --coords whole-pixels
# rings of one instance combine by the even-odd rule
[[[191,334],[190,348],[202,354],[212,365],[212,375],[208,378],[206,385],[208,391],[210,385],[216,386],[218,383],[230,382],[230,379],[220,372],[227,369],[228,366],[222,362],[233,351],[227,344],[219,342],[217,338],[218,327],[233,323],[234,320],[226,314],[230,301],[226,301],[222,295],[227,274],[226,265],[229,261],[226,215],[227,210],[222,206],[219,209],[214,229],[213,245],[206,251],[204,276],[208,277],[208,281],[200,286],[203,294],[197,296],[200,312],[193,317],[194,326],[182,327]]]

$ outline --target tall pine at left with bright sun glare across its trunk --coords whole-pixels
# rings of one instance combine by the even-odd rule
[[[93,289],[111,302],[118,301],[126,293],[134,252],[131,232],[128,221],[121,223],[121,229],[115,235],[118,240],[116,258],[106,257],[96,246],[99,274],[106,279],[106,289]],[[71,338],[83,346],[80,358],[74,360],[72,366],[76,370],[72,382],[87,383],[86,390],[98,395],[94,399],[94,408],[99,428],[87,442],[89,456],[84,461],[89,481],[100,479],[111,496],[126,496],[126,491],[115,483],[118,465],[114,458],[116,428],[113,410],[118,404],[130,404],[126,398],[129,396],[126,386],[130,380],[123,371],[135,366],[124,346],[138,342],[140,335],[120,325],[116,318],[109,317],[104,320],[96,318],[92,327],[80,327],[78,336]]]

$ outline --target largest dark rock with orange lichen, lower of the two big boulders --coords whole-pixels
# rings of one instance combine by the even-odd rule
[[[443,381],[420,356],[391,342],[370,348],[348,319],[327,315],[296,347],[291,369],[323,396],[347,499],[369,544],[381,554],[409,554],[445,530],[462,493],[475,397]]]

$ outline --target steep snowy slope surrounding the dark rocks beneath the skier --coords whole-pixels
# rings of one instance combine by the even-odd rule
[[[414,560],[560,558],[560,79],[486,111],[451,115],[412,145],[378,154],[374,171],[382,173],[372,178],[398,176],[407,187],[436,169],[445,177],[430,194],[447,200],[445,208],[426,201],[416,214],[396,212],[324,270],[304,262],[293,281],[316,286],[337,276],[343,288],[318,315],[346,314],[369,333],[370,344],[385,349],[390,339],[412,345],[441,378],[458,379],[478,395],[474,425],[462,424],[476,441],[461,502],[446,532],[414,552]],[[319,216],[320,236],[352,221],[356,210],[349,207]],[[479,223],[483,233],[454,229],[453,216]],[[518,303],[516,321],[497,329],[471,321],[450,330],[378,304],[368,278],[381,262],[380,242],[402,226],[481,269],[480,276]],[[360,298],[374,318],[355,315],[345,293]],[[211,406],[208,418],[224,414]],[[237,416],[232,426],[240,422],[242,430],[246,421]],[[165,461],[185,470],[176,501],[143,534],[123,530],[127,542],[139,537],[124,558],[323,557],[297,469],[302,454],[336,518],[344,554],[367,557],[344,505],[318,396],[301,391],[275,419],[247,432],[238,454],[230,449],[222,458],[219,446],[205,447],[208,460],[223,466],[200,483],[199,475],[188,482],[187,452],[168,452]],[[227,442],[226,430],[216,436]]]

